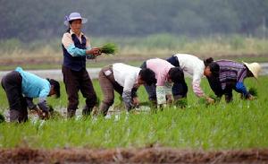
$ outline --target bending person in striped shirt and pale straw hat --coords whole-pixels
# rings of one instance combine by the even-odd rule
[[[230,60],[217,60],[208,58],[205,60],[205,76],[219,98],[225,95],[226,102],[232,101],[232,90],[241,93],[242,98],[252,100],[252,96],[244,85],[244,79],[255,77],[261,71],[261,65],[257,63],[240,64]]]

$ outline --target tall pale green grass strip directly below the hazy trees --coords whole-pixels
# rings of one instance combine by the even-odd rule
[[[124,56],[164,56],[174,53],[189,53],[197,56],[259,56],[267,55],[268,52],[268,39],[248,38],[242,35],[190,38],[163,33],[139,38],[91,38],[93,47],[101,47],[107,42],[118,45],[118,54]],[[56,58],[62,56],[60,38],[27,43],[18,39],[0,39],[0,47],[0,57],[54,56]]]

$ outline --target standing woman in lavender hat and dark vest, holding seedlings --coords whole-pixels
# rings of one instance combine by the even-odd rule
[[[91,113],[96,106],[96,92],[86,70],[86,58],[101,55],[100,48],[91,47],[89,39],[81,32],[82,24],[88,20],[80,13],[66,16],[64,24],[69,29],[63,34],[63,82],[68,95],[67,117],[74,117],[79,105],[79,91],[86,99],[83,115]]]

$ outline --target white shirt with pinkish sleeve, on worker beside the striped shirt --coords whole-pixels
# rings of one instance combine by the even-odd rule
[[[200,87],[201,79],[205,70],[204,62],[197,56],[188,54],[176,54],[174,56],[178,58],[180,68],[183,70],[183,72],[192,76],[192,87],[194,93],[197,95],[197,97],[204,96],[204,91],[202,91]]]

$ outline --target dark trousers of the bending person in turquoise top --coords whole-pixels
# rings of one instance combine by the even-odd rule
[[[7,73],[1,81],[10,108],[11,122],[28,120],[27,101],[22,95],[21,82],[21,74],[16,71]]]

